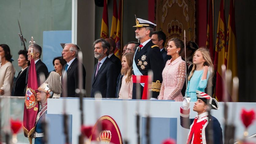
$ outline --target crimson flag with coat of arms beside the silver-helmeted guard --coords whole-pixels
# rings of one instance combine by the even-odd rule
[[[37,88],[36,65],[33,56],[31,56],[23,115],[24,135],[29,138],[30,144],[32,143],[32,134],[35,131],[36,116],[39,108],[36,100]]]

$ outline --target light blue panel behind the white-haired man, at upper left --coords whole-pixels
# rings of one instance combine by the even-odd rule
[[[53,58],[61,56],[61,43],[71,43],[71,31],[44,31],[43,32],[43,62],[49,72],[54,70]]]

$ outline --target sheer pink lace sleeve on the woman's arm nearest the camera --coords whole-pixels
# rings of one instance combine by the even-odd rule
[[[168,100],[174,100],[174,98],[179,94],[179,92],[181,91],[184,85],[185,78],[186,78],[186,64],[184,61],[182,61],[178,67],[177,85],[173,90],[173,92],[169,95]]]

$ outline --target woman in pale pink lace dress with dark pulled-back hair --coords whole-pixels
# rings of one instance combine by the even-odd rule
[[[178,38],[170,40],[167,48],[167,55],[172,59],[166,62],[162,72],[162,86],[159,100],[183,101],[181,89],[186,78],[186,63],[181,59],[181,51],[184,50],[183,42]]]

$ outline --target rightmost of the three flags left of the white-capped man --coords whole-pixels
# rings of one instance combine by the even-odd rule
[[[122,40],[122,7],[123,0],[119,1],[119,11],[118,11],[118,20],[117,20],[117,35],[116,35],[116,49],[115,55],[121,59],[121,40]]]

